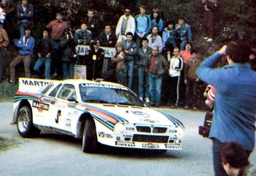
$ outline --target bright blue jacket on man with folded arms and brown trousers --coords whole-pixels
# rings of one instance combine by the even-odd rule
[[[28,40],[25,43],[25,36],[22,36],[19,40],[14,40],[14,44],[19,48],[19,54],[21,56],[33,54],[33,49],[35,47],[35,38],[29,36]]]

